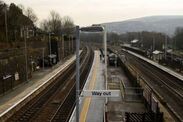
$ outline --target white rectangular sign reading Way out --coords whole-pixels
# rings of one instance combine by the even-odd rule
[[[119,97],[120,90],[83,90],[82,96],[88,97]]]

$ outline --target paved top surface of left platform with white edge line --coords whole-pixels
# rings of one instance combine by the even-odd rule
[[[50,77],[54,76],[58,72],[62,71],[71,62],[75,60],[75,56],[66,59],[64,63],[59,62],[52,68],[45,69],[44,71],[37,71],[33,74],[33,78],[29,79],[28,83],[21,84],[13,91],[0,97],[0,117],[13,106],[15,106],[21,99],[24,99],[35,89],[43,86],[45,82],[48,82]]]

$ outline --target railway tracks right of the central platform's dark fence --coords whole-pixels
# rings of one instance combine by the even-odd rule
[[[164,104],[174,118],[177,121],[183,121],[183,82],[135,56],[125,54],[128,57],[128,64],[140,73],[163,98]]]

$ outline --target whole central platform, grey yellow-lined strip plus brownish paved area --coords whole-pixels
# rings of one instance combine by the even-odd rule
[[[94,63],[89,73],[89,77],[84,86],[84,90],[105,90],[104,79],[105,64],[100,60],[100,51],[95,51]],[[117,79],[117,80],[116,80]],[[131,86],[130,81],[125,76],[120,67],[108,66],[108,89],[120,90],[120,82]],[[80,122],[121,122],[124,119],[124,113],[127,112],[145,112],[146,108],[140,102],[125,102],[121,95],[119,97],[80,97]],[[107,114],[106,114],[107,113]],[[107,115],[107,117],[104,117]],[[121,118],[119,118],[119,116]],[[75,122],[75,110],[72,113],[69,122]]]

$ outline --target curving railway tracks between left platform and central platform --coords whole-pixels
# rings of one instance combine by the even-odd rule
[[[81,87],[85,83],[93,61],[93,51],[85,48],[81,53]],[[68,121],[75,106],[75,62],[53,82],[49,88],[33,98],[7,121],[47,122]]]

